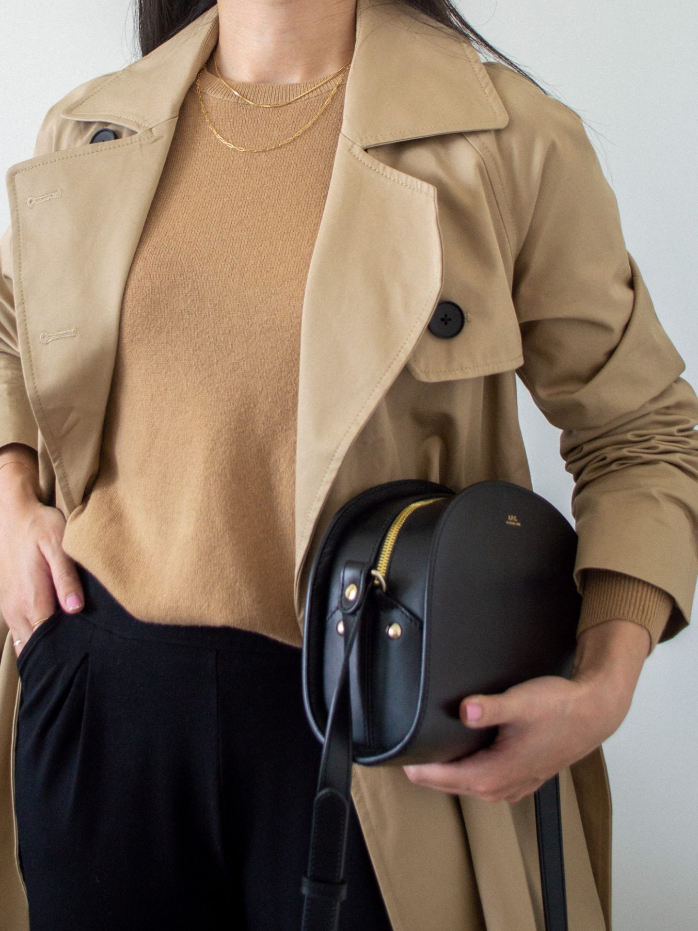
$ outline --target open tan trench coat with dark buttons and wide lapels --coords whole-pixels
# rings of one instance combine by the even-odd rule
[[[674,599],[698,573],[698,398],[624,245],[581,120],[401,3],[358,0],[342,130],[302,306],[293,597],[319,537],[383,481],[531,487],[516,377],[574,479],[589,567]],[[119,312],[178,111],[218,40],[217,7],[140,61],[70,91],[7,170],[0,242],[0,445],[39,453],[67,516],[99,467]],[[90,144],[97,129],[116,139]],[[427,324],[454,301],[466,322]],[[167,337],[167,333],[163,334]],[[154,347],[156,352],[156,347]],[[26,931],[13,753],[20,681],[2,621],[0,931]],[[560,774],[572,931],[611,928],[602,749]],[[533,797],[485,803],[355,765],[353,798],[395,931],[543,931]]]

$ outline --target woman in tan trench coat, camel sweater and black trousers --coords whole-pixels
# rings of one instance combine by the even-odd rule
[[[315,546],[383,481],[530,487],[517,374],[575,479],[574,675],[356,767],[340,926],[540,931],[559,772],[570,927],[610,927],[600,744],[690,620],[698,398],[579,118],[422,6],[143,0],[7,172],[3,931],[299,926]]]

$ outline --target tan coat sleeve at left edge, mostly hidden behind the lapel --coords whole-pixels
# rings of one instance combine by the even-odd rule
[[[42,121],[34,157],[54,149],[55,110],[51,107]],[[38,427],[25,388],[17,327],[10,223],[0,238],[0,448],[7,443],[24,443],[38,450]]]

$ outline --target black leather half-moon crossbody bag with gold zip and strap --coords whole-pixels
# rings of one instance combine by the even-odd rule
[[[385,482],[333,516],[305,600],[303,702],[323,749],[302,931],[338,926],[353,762],[460,759],[497,733],[463,725],[464,697],[570,678],[576,549],[555,506],[501,480]],[[545,929],[567,931],[558,775],[534,801]]]

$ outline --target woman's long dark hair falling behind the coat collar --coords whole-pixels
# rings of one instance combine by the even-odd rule
[[[147,55],[167,39],[180,32],[184,26],[215,6],[216,0],[134,0],[136,6],[136,32],[141,55]],[[484,36],[476,32],[469,22],[463,19],[450,0],[402,0],[407,7],[413,7],[431,17],[447,29],[455,30],[466,36],[477,50],[485,57],[513,68],[518,74],[528,78],[536,87],[541,88],[530,74],[527,74],[516,61],[507,58],[498,48],[491,46]]]

